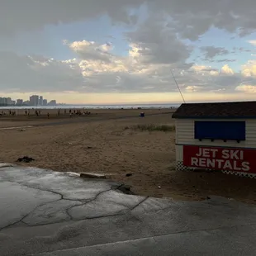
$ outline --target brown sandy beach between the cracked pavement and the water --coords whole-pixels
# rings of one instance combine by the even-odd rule
[[[174,126],[171,109],[87,110],[90,115],[0,116],[0,163],[17,164],[29,156],[26,166],[59,172],[104,173],[126,183],[135,194],[203,200],[216,195],[256,202],[254,179],[219,172],[175,171],[175,131],[135,129],[138,125]],[[152,116],[150,116],[152,115]],[[31,127],[26,127],[31,126]],[[13,128],[19,127],[19,128]],[[126,177],[126,174],[132,174]]]

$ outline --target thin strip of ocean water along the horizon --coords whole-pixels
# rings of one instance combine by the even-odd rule
[[[141,107],[143,109],[149,109],[149,108],[171,108],[171,107],[179,107],[181,104],[130,104],[130,105],[59,105],[59,106],[39,106],[39,107],[33,107],[33,106],[22,106],[22,107],[0,107],[0,109],[74,109],[74,108],[85,108],[85,109],[131,109],[131,108],[138,108]]]

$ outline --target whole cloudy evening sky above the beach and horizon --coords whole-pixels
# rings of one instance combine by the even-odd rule
[[[1,0],[0,97],[254,100],[255,0]],[[173,75],[172,75],[173,73]]]

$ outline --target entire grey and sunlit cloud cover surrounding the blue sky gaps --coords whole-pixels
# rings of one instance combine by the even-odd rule
[[[115,45],[110,43],[87,39],[64,40],[73,54],[71,59],[2,51],[2,92],[177,92],[171,69],[184,92],[244,92],[245,86],[254,86],[254,60],[239,72],[227,64],[235,59],[214,60],[229,54],[225,48],[201,47],[205,59],[223,63],[220,70],[187,60],[194,50],[191,41],[198,40],[211,27],[239,36],[255,31],[253,0],[2,0],[0,36],[13,40],[12,36],[23,31],[102,15],[112,22],[135,25],[136,14],[131,9],[142,4],[148,13],[144,21],[125,33],[130,45],[127,55],[114,54]],[[249,43],[254,45],[254,40]]]

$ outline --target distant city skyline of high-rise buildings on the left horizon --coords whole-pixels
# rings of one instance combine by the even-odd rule
[[[43,96],[40,95],[31,95],[29,99],[25,100],[21,98],[17,98],[17,100],[12,100],[12,97],[0,97],[0,106],[56,106],[56,100],[50,100],[48,102],[47,99],[44,99]]]

